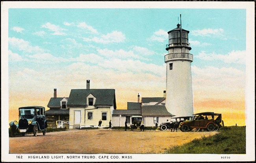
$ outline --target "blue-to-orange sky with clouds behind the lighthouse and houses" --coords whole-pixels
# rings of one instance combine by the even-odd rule
[[[44,9],[8,11],[9,121],[57,89],[115,89],[117,109],[163,97],[168,31],[189,31],[194,113],[245,125],[246,9]]]

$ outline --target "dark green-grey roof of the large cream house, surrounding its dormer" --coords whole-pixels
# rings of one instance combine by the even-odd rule
[[[114,106],[115,89],[71,89],[67,106],[87,106],[87,96],[93,94],[95,96],[95,106]]]

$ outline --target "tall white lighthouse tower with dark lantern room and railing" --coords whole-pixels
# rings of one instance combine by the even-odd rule
[[[181,18],[181,15],[180,15]],[[188,42],[189,31],[182,29],[181,20],[177,28],[168,32],[169,44],[165,55],[166,63],[166,98],[165,107],[176,116],[192,116],[193,93],[191,62],[193,55]]]

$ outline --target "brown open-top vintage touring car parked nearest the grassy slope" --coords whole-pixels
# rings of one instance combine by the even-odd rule
[[[208,131],[219,130],[224,126],[221,114],[214,112],[201,112],[193,114],[193,120],[180,123],[180,130],[183,132],[192,129],[206,129]]]

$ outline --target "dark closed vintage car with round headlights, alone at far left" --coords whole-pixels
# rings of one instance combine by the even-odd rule
[[[37,130],[41,130],[43,135],[46,134],[47,122],[45,118],[45,107],[29,106],[19,108],[19,123],[11,121],[10,136],[14,136],[15,132],[20,132],[22,136],[26,132],[33,132],[37,136]]]

